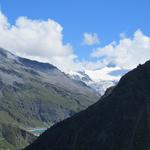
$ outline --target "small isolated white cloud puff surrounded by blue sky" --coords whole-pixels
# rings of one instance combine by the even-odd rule
[[[84,45],[94,45],[99,44],[99,38],[96,33],[84,33],[83,44]]]

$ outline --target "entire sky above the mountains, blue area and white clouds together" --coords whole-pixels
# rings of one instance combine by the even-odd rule
[[[63,71],[150,59],[149,0],[0,0],[0,47]],[[15,41],[15,42],[14,42]]]

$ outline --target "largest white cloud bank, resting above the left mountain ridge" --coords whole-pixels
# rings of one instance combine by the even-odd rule
[[[51,19],[19,17],[15,25],[11,25],[0,12],[0,47],[22,57],[47,61],[66,71],[77,68],[78,64],[72,46],[63,43],[62,30],[62,26]]]

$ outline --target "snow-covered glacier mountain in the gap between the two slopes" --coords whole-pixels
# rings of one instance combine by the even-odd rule
[[[116,85],[128,71],[120,67],[104,67],[97,70],[71,71],[68,75],[72,79],[84,82],[103,95],[107,88]]]

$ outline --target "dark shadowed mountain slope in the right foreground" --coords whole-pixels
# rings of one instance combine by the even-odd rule
[[[150,61],[100,101],[62,121],[25,150],[149,150]]]

